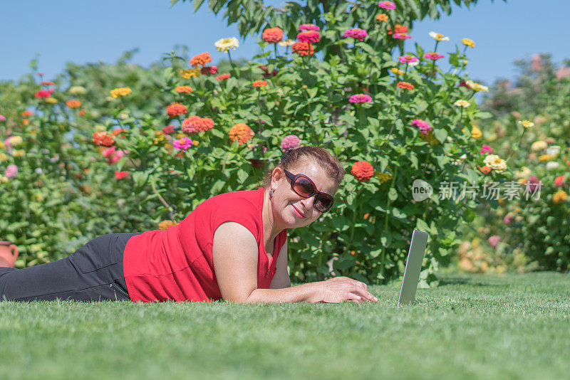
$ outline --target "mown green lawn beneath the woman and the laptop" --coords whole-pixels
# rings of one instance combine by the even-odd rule
[[[567,379],[570,275],[446,275],[380,302],[0,302],[0,379]]]

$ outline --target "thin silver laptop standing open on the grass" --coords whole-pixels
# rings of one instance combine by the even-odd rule
[[[402,287],[400,287],[397,305],[412,305],[414,303],[415,290],[420,281],[420,270],[422,269],[426,246],[427,233],[414,230],[410,250],[408,250],[408,260],[405,262],[404,279]]]

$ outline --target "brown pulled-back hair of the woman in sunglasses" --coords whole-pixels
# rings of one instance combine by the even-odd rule
[[[326,174],[335,182],[336,189],[341,184],[345,170],[341,166],[341,162],[333,157],[332,154],[328,153],[323,148],[319,147],[299,147],[297,149],[289,149],[281,157],[281,162],[275,165],[265,173],[264,179],[261,180],[259,186],[269,189],[271,185],[271,173],[273,173],[276,167],[281,167],[281,169],[291,169],[297,163],[301,161],[313,161],[320,167],[325,169]]]

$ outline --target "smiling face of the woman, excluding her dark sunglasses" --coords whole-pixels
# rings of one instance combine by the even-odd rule
[[[328,177],[326,171],[313,162],[299,162],[288,171],[293,174],[305,174],[316,186],[317,191],[334,196],[335,183]],[[271,177],[271,187],[274,194],[271,197],[271,205],[275,218],[281,219],[286,228],[306,226],[316,221],[322,213],[315,209],[315,197],[304,198],[291,189],[291,180],[285,175],[280,167],[274,169]]]

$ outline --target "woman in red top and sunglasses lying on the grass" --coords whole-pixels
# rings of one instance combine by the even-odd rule
[[[287,273],[287,229],[331,209],[343,176],[326,150],[291,149],[259,189],[207,199],[166,231],[100,236],[53,263],[0,268],[0,298],[376,302],[350,278],[291,287]]]

